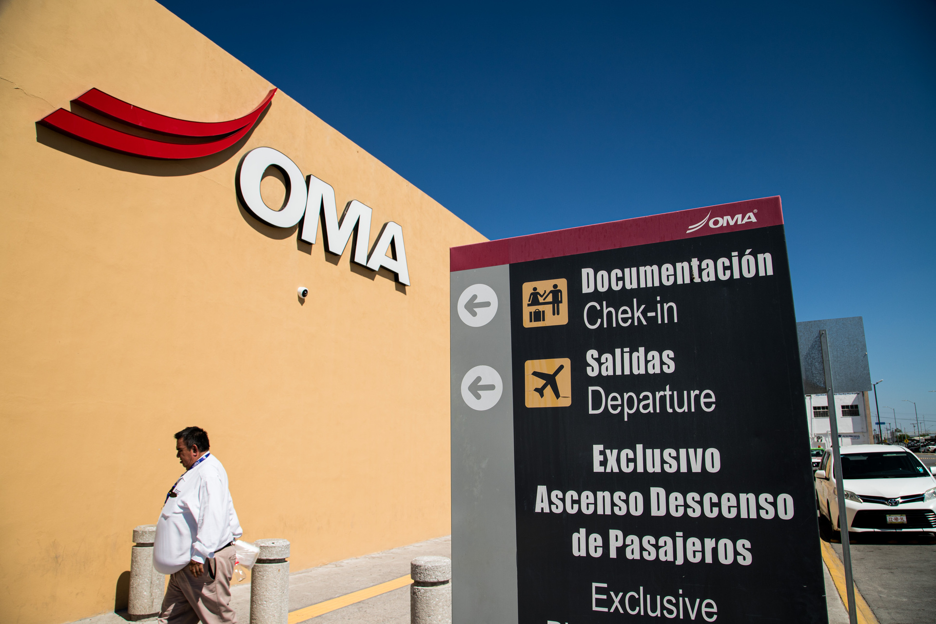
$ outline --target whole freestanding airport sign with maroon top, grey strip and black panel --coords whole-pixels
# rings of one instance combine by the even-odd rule
[[[450,260],[452,624],[826,624],[779,197]]]

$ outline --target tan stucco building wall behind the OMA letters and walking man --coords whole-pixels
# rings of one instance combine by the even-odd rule
[[[483,237],[282,92],[200,161],[37,131],[91,87],[222,121],[271,86],[149,0],[0,4],[0,621],[114,607],[188,425],[293,570],[449,532],[448,247]],[[372,241],[400,223],[412,285],[240,210],[261,145],[372,207]]]

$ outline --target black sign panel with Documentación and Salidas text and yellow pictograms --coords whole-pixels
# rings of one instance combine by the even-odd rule
[[[783,226],[509,270],[519,622],[825,622]]]

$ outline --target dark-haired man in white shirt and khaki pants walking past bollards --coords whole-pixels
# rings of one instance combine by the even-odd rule
[[[236,624],[230,581],[241,523],[227,489],[224,466],[208,452],[208,433],[186,427],[175,434],[185,472],[169,489],[156,522],[154,568],[171,574],[159,624]]]

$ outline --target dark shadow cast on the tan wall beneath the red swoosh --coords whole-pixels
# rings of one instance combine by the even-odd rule
[[[93,116],[87,111],[73,107],[74,112],[80,113],[82,117],[93,118],[95,121],[106,121],[103,118]],[[241,138],[237,143],[231,145],[227,150],[212,154],[211,156],[202,156],[201,158],[188,158],[185,160],[158,160],[155,158],[142,158],[140,156],[130,156],[120,152],[111,152],[104,148],[84,143],[77,138],[66,137],[59,134],[44,125],[36,123],[36,141],[53,150],[65,152],[76,158],[100,165],[101,167],[110,167],[118,171],[129,171],[130,173],[139,173],[144,176],[171,177],[187,176],[201,171],[207,171],[221,165],[250,140],[256,127],[263,122],[264,117],[270,111],[270,107],[264,110],[256,120],[254,127],[250,132]],[[150,133],[134,132],[139,136],[145,136]],[[154,135],[151,135],[154,137]],[[165,137],[161,139],[165,140]],[[183,142],[183,141],[179,141]]]

